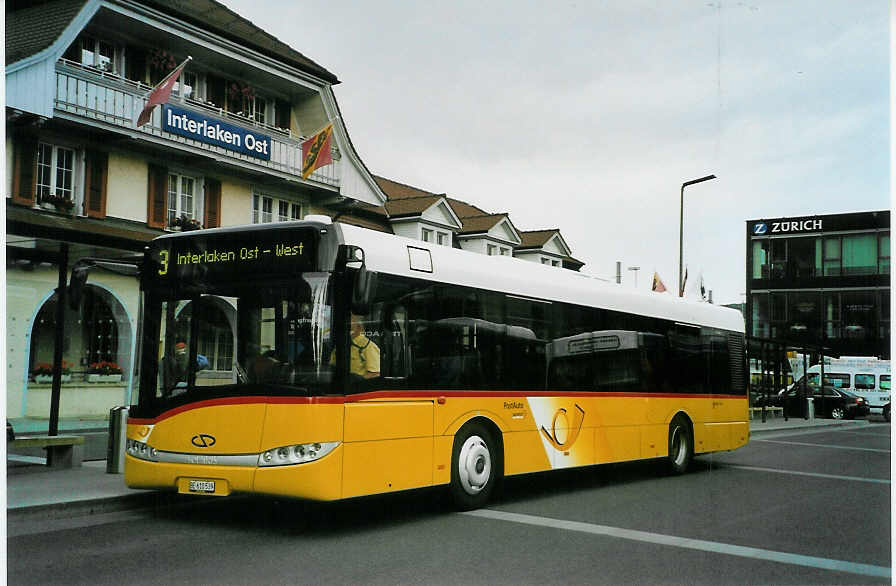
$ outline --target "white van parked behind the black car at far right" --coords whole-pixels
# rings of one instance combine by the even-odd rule
[[[810,366],[809,384],[817,386],[820,373],[820,364]],[[880,409],[884,418],[890,420],[889,360],[868,356],[825,357],[824,383],[864,397],[871,409]],[[802,384],[802,378],[794,384]]]

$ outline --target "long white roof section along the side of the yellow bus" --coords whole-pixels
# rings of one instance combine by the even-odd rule
[[[334,225],[345,244],[364,250],[368,270],[744,332],[743,316],[736,309],[667,293],[624,289],[582,273],[518,258],[487,256],[348,224]],[[412,263],[416,264],[412,267]]]

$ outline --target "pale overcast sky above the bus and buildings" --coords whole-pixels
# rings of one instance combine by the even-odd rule
[[[223,0],[333,72],[375,174],[743,301],[745,221],[890,208],[889,2]]]

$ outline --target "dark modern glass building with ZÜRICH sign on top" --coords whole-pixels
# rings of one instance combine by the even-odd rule
[[[890,212],[747,221],[747,333],[890,357]]]

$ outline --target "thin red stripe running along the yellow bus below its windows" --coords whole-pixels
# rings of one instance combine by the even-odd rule
[[[165,411],[158,417],[153,418],[137,418],[129,417],[128,423],[131,425],[154,425],[159,421],[174,417],[186,411],[194,409],[204,409],[206,407],[219,407],[223,405],[343,405],[345,403],[361,403],[364,401],[373,401],[376,399],[405,399],[413,400],[418,398],[470,398],[477,397],[480,399],[488,398],[529,398],[529,397],[553,397],[553,398],[575,398],[575,397],[627,397],[627,398],[660,398],[660,399],[743,399],[746,401],[746,395],[706,395],[696,393],[600,393],[593,391],[568,392],[568,393],[552,393],[550,391],[372,391],[370,393],[361,393],[348,396],[318,396],[318,397],[227,397],[221,399],[209,399],[206,401],[198,401],[188,405],[175,407],[170,411]]]

